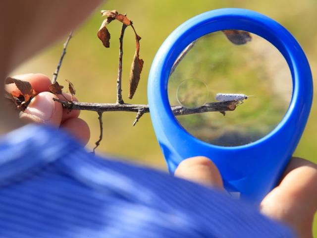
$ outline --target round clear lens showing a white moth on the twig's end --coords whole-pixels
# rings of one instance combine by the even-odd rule
[[[176,117],[190,134],[239,146],[261,139],[283,119],[292,77],[286,60],[262,37],[224,30],[184,49],[171,68],[168,97],[171,106],[195,108]]]

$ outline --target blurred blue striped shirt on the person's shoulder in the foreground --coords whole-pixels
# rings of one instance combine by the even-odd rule
[[[61,130],[0,140],[0,238],[293,237],[253,207],[163,172],[93,156]]]

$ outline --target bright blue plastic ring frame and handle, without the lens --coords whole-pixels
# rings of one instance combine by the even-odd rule
[[[189,134],[173,116],[167,96],[170,69],[184,48],[206,34],[225,29],[252,32],[273,44],[286,59],[293,81],[292,100],[280,123],[262,139],[236,147],[211,145]],[[312,105],[313,80],[302,48],[283,26],[251,10],[224,8],[195,16],[168,36],[151,66],[148,99],[171,173],[186,158],[206,156],[218,167],[226,189],[259,203],[276,185],[300,140]]]

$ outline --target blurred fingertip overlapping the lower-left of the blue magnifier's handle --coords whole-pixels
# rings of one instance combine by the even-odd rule
[[[175,170],[174,175],[223,190],[219,170],[207,157],[198,156],[183,160]]]

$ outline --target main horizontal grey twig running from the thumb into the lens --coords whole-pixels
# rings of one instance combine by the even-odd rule
[[[63,108],[69,110],[86,110],[94,112],[136,112],[142,111],[144,113],[149,113],[149,105],[144,104],[116,104],[116,103],[82,103],[82,102],[69,102],[63,101],[60,99],[53,98],[54,101],[57,101],[62,104]],[[185,108],[183,106],[171,106],[172,113],[175,116],[189,115],[196,113],[207,113],[207,112],[225,112],[225,111],[234,111],[236,105],[239,102],[229,101],[229,102],[213,102],[205,103],[199,108]]]

